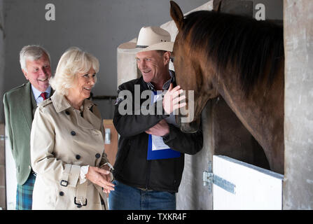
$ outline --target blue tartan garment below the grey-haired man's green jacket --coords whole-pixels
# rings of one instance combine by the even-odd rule
[[[36,176],[31,172],[23,185],[18,184],[18,189],[16,190],[16,210],[32,210],[35,179]]]

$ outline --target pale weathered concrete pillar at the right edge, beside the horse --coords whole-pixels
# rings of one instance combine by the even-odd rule
[[[284,209],[313,209],[313,1],[284,0]]]

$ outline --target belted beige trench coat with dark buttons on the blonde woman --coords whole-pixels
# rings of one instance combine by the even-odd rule
[[[108,208],[101,204],[100,195],[106,202],[101,187],[79,181],[81,166],[101,167],[109,162],[99,110],[88,99],[83,105],[81,117],[55,92],[36,109],[31,132],[31,160],[37,174],[33,209]]]

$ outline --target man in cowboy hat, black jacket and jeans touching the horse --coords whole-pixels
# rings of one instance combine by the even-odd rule
[[[174,87],[174,71],[169,70],[173,45],[170,34],[160,27],[142,27],[139,32],[134,48],[139,49],[136,59],[142,76],[118,87],[119,96],[127,90],[132,97],[118,97],[116,101],[113,123],[120,139],[109,209],[176,209],[183,153],[195,154],[202,149],[202,131],[181,132],[172,115],[185,106],[179,103],[184,99],[179,96],[182,90]],[[150,107],[161,113],[141,112],[146,99],[136,99],[135,92],[147,90],[153,94],[151,99],[157,99]],[[154,96],[162,90],[167,90],[166,94]],[[132,107],[128,114],[121,113],[125,105]]]

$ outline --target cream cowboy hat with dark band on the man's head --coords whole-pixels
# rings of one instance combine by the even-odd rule
[[[171,42],[171,34],[160,27],[142,27],[139,31],[137,43],[128,42],[122,48],[136,48],[138,52],[149,50],[173,51],[174,42]]]

